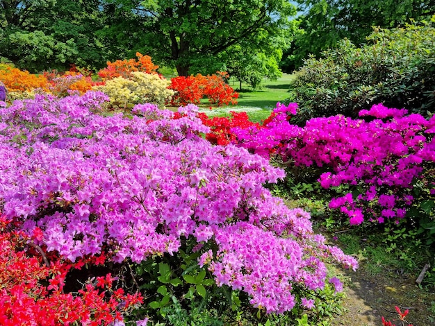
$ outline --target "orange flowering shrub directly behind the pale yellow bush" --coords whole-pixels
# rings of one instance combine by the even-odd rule
[[[98,71],[98,76],[101,79],[113,79],[116,77],[127,78],[133,71],[142,71],[147,74],[157,74],[158,66],[151,62],[149,55],[142,55],[136,52],[138,59],[116,60],[115,62],[107,62],[107,67]]]

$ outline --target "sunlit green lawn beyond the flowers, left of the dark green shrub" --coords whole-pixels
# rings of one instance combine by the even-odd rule
[[[249,89],[249,86],[243,83],[241,92],[238,90],[240,87],[238,81],[230,79],[229,85],[239,93],[238,105],[222,106],[212,110],[204,108],[202,111],[209,116],[227,116],[229,111],[245,111],[252,121],[261,121],[269,117],[277,102],[282,102],[288,98],[288,89],[293,78],[293,75],[283,74],[276,81],[266,80],[263,83],[263,88],[258,90]],[[204,99],[203,103],[206,105],[208,100]]]

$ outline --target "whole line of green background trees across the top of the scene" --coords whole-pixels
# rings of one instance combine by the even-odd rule
[[[0,0],[0,58],[38,72],[151,55],[180,76],[217,70],[258,85],[372,26],[435,13],[435,0]]]

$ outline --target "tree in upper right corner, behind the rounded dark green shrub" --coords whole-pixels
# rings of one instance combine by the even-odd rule
[[[435,0],[297,0],[299,33],[284,53],[286,70],[293,70],[311,53],[334,46],[347,38],[360,45],[372,33],[372,26],[404,26],[411,20],[429,19],[435,14]],[[290,57],[290,58],[289,58]]]

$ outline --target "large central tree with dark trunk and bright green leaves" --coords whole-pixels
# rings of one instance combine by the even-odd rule
[[[295,7],[286,0],[114,0],[143,17],[143,53],[177,67],[180,76],[201,60],[211,62],[258,34],[274,37],[288,26]],[[258,44],[261,46],[261,44]],[[252,46],[254,48],[254,46]]]

